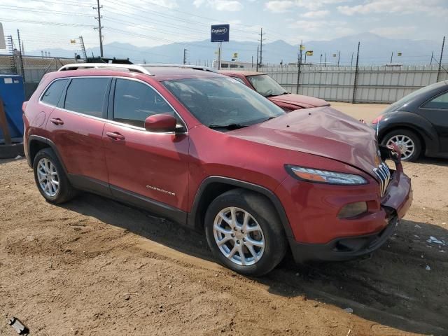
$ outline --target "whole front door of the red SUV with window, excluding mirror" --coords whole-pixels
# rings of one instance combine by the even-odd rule
[[[144,129],[148,116],[176,112],[148,83],[116,78],[112,86],[108,115],[113,121],[103,136],[111,192],[120,197],[116,186],[186,211],[188,135]]]

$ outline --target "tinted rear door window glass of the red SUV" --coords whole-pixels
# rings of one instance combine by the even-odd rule
[[[67,88],[64,109],[102,118],[109,80],[109,78],[72,79]]]

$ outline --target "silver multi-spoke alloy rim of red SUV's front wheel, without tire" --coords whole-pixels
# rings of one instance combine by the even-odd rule
[[[222,209],[214,220],[219,251],[237,265],[253,265],[265,251],[265,236],[255,218],[244,209]]]

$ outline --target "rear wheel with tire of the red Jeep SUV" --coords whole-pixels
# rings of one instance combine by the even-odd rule
[[[48,202],[53,204],[67,202],[76,195],[76,190],[71,186],[51,148],[38,151],[34,158],[33,169],[37,188]]]

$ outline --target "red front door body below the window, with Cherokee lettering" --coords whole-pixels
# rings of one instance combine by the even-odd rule
[[[187,135],[158,134],[107,123],[103,141],[111,186],[187,211]]]

